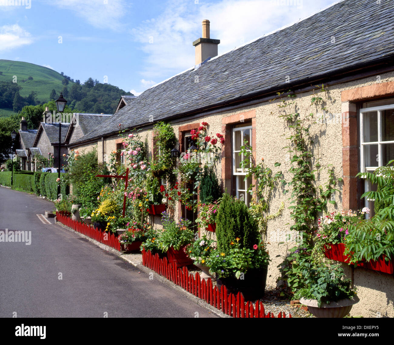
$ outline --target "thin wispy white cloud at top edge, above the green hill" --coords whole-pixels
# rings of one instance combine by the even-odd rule
[[[47,4],[74,12],[96,28],[120,30],[120,19],[126,14],[129,4],[125,0],[47,0]]]

